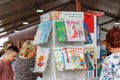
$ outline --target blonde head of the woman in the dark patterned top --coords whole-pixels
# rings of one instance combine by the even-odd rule
[[[22,45],[22,48],[20,50],[20,54],[24,57],[27,57],[27,55],[30,53],[30,51],[33,49],[33,45],[30,41],[25,41]]]

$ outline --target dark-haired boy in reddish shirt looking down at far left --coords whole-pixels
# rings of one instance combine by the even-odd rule
[[[11,63],[16,60],[19,50],[16,46],[9,46],[0,60],[0,80],[13,80],[14,73]]]

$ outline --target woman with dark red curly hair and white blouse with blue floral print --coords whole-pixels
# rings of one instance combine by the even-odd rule
[[[113,27],[106,35],[112,54],[105,58],[100,80],[120,80],[120,28]]]

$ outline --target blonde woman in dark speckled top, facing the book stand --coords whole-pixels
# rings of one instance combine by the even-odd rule
[[[14,63],[15,80],[36,80],[37,75],[30,69],[35,65],[36,47],[30,41],[23,43],[20,56]]]

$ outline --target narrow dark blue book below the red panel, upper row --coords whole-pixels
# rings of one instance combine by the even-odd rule
[[[90,32],[88,30],[88,27],[87,25],[84,23],[84,33],[85,33],[85,44],[91,44],[92,43],[92,38],[91,38],[91,35],[90,35]]]

